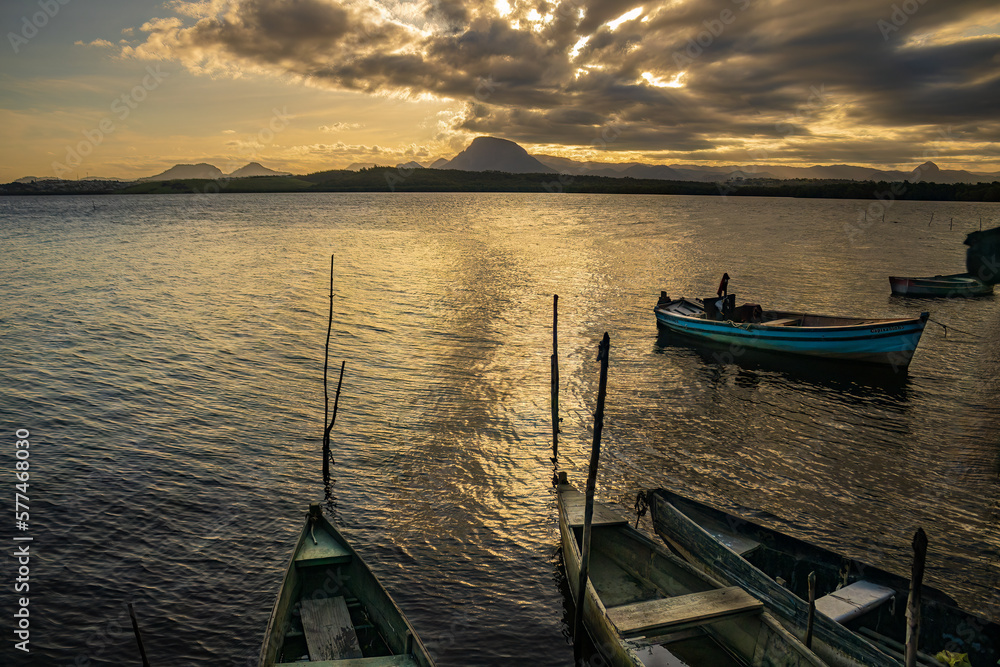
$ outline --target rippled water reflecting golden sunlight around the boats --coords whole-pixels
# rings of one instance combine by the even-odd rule
[[[1000,618],[1000,297],[892,297],[964,270],[995,204],[532,194],[0,199],[9,509],[28,429],[30,648],[4,664],[255,664],[310,502],[442,667],[573,664],[549,408],[582,487],[611,337],[600,499],[666,486],[906,572]],[[933,221],[931,217],[933,214]],[[877,221],[876,221],[877,220]],[[928,223],[931,222],[929,225]],[[950,228],[953,227],[953,228]],[[323,346],[346,360],[321,466]],[[908,372],[732,355],[657,331],[715,293],[928,324]],[[336,382],[332,373],[332,381]],[[649,527],[648,517],[643,525]],[[8,660],[9,656],[11,660]]]

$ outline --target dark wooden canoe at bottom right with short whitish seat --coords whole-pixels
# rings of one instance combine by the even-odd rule
[[[664,489],[648,494],[653,526],[702,571],[743,586],[796,635],[805,633],[808,581],[816,573],[812,647],[821,657],[898,666],[906,637],[909,581]],[[1000,626],[924,585],[918,664],[940,667],[940,651],[966,653],[973,667],[1000,658]]]

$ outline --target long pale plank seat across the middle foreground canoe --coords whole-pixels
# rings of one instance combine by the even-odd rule
[[[620,605],[608,609],[608,618],[623,635],[637,635],[668,628],[678,630],[756,613],[764,604],[739,586]]]

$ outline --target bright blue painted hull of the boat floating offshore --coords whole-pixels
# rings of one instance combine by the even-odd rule
[[[670,331],[729,345],[734,351],[754,348],[826,359],[886,364],[894,368],[906,368],[910,364],[928,315],[923,313],[912,319],[844,326],[773,326],[682,315],[671,312],[662,304],[654,312],[657,323]]]

